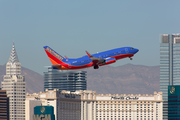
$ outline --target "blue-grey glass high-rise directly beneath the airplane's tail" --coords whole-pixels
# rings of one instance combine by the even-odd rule
[[[48,72],[44,72],[44,91],[46,89],[71,92],[86,90],[86,71],[63,72],[59,69],[48,68]]]

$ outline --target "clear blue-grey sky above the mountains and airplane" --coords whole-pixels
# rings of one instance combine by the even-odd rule
[[[179,0],[1,0],[0,65],[13,42],[23,67],[43,74],[51,62],[43,46],[78,58],[119,47],[138,48],[124,64],[159,65],[160,34],[180,33]],[[93,68],[92,68],[93,69]]]

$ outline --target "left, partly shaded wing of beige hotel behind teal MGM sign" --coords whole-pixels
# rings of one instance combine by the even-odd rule
[[[42,106],[53,106],[55,120],[80,120],[81,118],[81,96],[76,92],[62,91],[58,89],[47,90],[39,94],[27,94],[27,99],[41,101]],[[28,101],[28,100],[27,100]],[[37,105],[40,106],[40,105]],[[34,109],[35,106],[27,105],[26,111]],[[29,114],[28,112],[26,114]],[[30,115],[26,120],[33,117]]]

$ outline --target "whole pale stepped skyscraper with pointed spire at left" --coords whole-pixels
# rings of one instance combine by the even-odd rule
[[[10,120],[25,120],[26,83],[21,75],[21,64],[14,43],[6,64],[6,75],[1,84],[2,90],[6,90],[9,97]]]

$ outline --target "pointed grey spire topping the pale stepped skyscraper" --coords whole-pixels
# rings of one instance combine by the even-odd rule
[[[15,46],[14,46],[14,42],[13,42],[13,46],[12,46],[12,50],[11,50],[11,54],[9,56],[9,63],[17,63],[19,62],[18,60],[18,56],[17,56],[17,53],[16,53],[16,49],[15,49]]]

